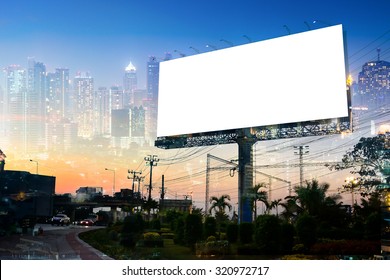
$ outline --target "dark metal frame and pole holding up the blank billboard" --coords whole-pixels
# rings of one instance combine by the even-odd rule
[[[351,133],[353,131],[351,91],[350,85],[347,84],[347,73],[349,70],[345,31],[343,31],[343,47],[348,116],[157,137],[155,146],[162,149],[175,149],[233,143],[238,144],[238,223],[252,222],[252,205],[248,193],[250,189],[253,188],[252,147],[257,141],[334,135]]]

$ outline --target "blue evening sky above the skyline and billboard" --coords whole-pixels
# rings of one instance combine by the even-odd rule
[[[387,0],[2,1],[0,67],[26,66],[27,57],[35,57],[48,71],[89,71],[96,86],[111,86],[122,84],[131,61],[144,88],[149,56],[177,58],[210,51],[206,45],[220,49],[343,24],[356,75],[389,38],[362,51],[389,31],[389,10]]]

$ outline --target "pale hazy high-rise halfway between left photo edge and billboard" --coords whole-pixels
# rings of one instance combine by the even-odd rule
[[[75,115],[77,135],[91,138],[95,135],[94,80],[88,72],[78,72],[74,78]]]

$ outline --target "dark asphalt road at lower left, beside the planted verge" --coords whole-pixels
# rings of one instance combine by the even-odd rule
[[[38,234],[37,229],[43,229]],[[37,224],[34,234],[0,237],[1,260],[108,260],[108,256],[78,238],[97,227]]]

